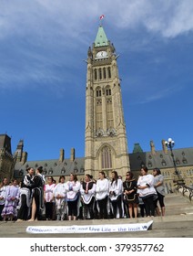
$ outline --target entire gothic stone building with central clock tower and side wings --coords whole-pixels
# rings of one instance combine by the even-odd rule
[[[150,142],[150,151],[143,152],[139,144],[134,145],[132,154],[127,151],[127,131],[122,105],[121,84],[118,76],[116,49],[107,39],[102,26],[98,27],[96,40],[87,51],[86,73],[86,130],[85,157],[76,158],[75,149],[71,149],[69,159],[64,149],[60,150],[56,160],[27,161],[24,141],[21,140],[11,152],[11,138],[0,135],[0,178],[4,176],[21,179],[29,166],[44,167],[45,176],[54,176],[56,181],[61,175],[76,173],[79,178],[91,174],[95,178],[103,170],[110,176],[117,170],[125,178],[131,170],[139,175],[141,165],[149,170],[161,169],[165,176],[167,192],[173,190],[174,165],[171,155],[162,140],[162,150],[156,151]],[[188,186],[193,184],[193,148],[174,150],[178,172]]]

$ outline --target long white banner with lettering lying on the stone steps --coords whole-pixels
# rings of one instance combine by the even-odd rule
[[[53,234],[53,233],[106,233],[106,232],[134,232],[151,229],[153,220],[147,223],[112,224],[112,225],[84,225],[84,226],[28,226],[27,233]]]

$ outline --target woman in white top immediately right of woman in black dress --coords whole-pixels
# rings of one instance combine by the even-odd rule
[[[147,174],[147,167],[141,168],[141,176],[137,180],[137,193],[142,198],[147,217],[155,216],[154,197],[157,196],[157,191],[154,187],[154,176]]]

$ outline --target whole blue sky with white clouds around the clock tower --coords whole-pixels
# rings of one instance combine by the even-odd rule
[[[0,0],[0,133],[28,160],[85,154],[87,49],[103,27],[121,79],[128,152],[193,146],[192,0]]]

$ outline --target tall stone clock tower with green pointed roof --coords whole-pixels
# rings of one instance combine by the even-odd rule
[[[87,55],[85,171],[97,177],[113,170],[123,176],[130,165],[117,54],[100,26]]]

